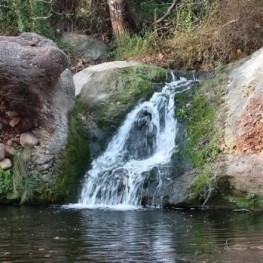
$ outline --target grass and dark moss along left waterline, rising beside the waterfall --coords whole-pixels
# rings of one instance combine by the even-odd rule
[[[69,114],[69,136],[59,162],[44,172],[32,171],[32,149],[21,150],[13,168],[0,169],[0,201],[6,203],[53,203],[73,201],[89,164],[87,136],[80,121],[79,103]]]

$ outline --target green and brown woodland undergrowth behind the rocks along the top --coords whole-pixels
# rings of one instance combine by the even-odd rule
[[[111,1],[114,2],[114,1]],[[80,32],[108,42],[112,59],[172,69],[215,69],[263,46],[263,2],[258,0],[127,0],[126,30],[113,34],[107,0],[1,0],[0,34],[33,31],[59,42]]]

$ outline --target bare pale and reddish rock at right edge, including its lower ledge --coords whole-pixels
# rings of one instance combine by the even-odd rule
[[[263,196],[263,48],[232,71],[224,100],[225,174],[236,193]]]

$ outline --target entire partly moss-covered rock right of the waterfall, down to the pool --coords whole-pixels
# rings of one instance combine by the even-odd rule
[[[186,172],[173,179],[167,205],[263,209],[263,49],[231,67],[200,87],[201,102],[209,102],[200,105],[217,108],[208,106],[206,112],[215,114],[205,122],[208,129],[199,131],[216,132],[197,135],[187,158],[197,152],[199,167],[192,177]],[[206,118],[203,107],[197,114],[191,110],[198,119],[188,124],[190,132]]]

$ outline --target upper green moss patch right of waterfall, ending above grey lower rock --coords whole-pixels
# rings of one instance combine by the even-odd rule
[[[212,163],[220,154],[223,122],[219,120],[222,114],[219,109],[230,68],[220,68],[213,79],[203,81],[191,91],[176,97],[176,115],[179,122],[185,125],[187,137],[178,154],[190,158],[194,167],[201,168]]]

